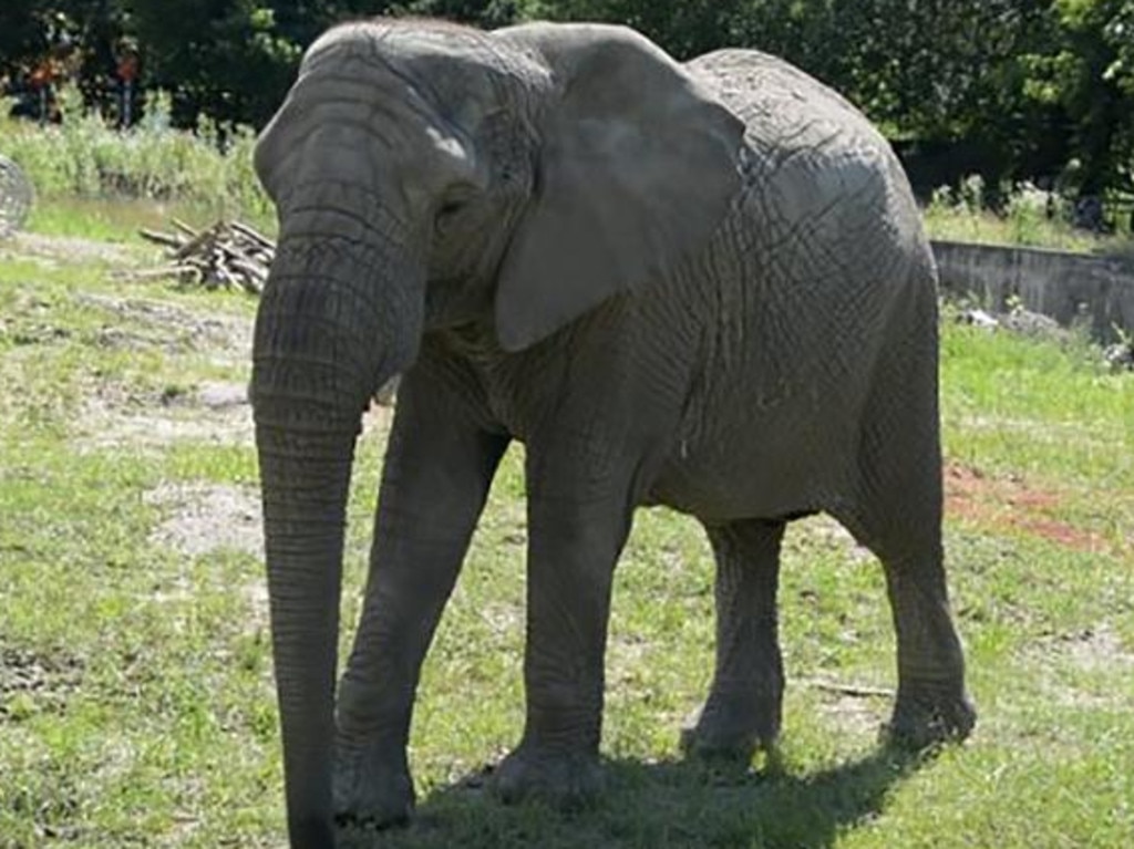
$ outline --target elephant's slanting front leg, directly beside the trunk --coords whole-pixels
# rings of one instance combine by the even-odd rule
[[[406,741],[422,661],[508,444],[449,398],[414,373],[400,388],[362,619],[338,695],[340,824],[389,825],[413,808]]]

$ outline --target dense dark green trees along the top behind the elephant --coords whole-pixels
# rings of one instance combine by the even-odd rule
[[[178,124],[259,126],[319,32],[376,14],[620,22],[679,58],[760,48],[858,103],[925,186],[980,171],[1072,195],[1134,188],[1134,0],[6,0],[0,73],[66,56],[112,104],[133,51]]]

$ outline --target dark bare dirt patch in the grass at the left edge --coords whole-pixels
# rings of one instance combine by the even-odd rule
[[[36,653],[0,639],[0,723],[64,708],[83,665],[62,653]]]

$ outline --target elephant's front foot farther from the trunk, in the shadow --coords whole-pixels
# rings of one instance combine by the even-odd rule
[[[558,810],[591,805],[602,791],[603,775],[593,754],[549,750],[523,744],[492,775],[491,789],[505,803],[542,801]]]

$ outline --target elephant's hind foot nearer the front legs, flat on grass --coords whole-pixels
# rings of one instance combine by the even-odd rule
[[[775,750],[779,727],[778,698],[711,696],[696,723],[682,730],[682,750],[686,757],[746,767],[758,749]]]

